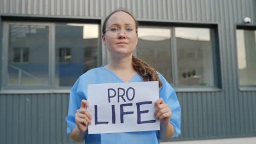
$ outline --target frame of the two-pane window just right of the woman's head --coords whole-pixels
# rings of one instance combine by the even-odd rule
[[[172,80],[170,85],[176,90],[176,92],[219,92],[222,90],[222,65],[220,46],[219,46],[219,23],[189,23],[189,22],[155,22],[155,21],[139,21],[139,26],[142,27],[164,27],[171,29],[171,62],[172,62]],[[214,86],[181,86],[177,85],[178,81],[178,60],[177,60],[177,41],[175,37],[176,27],[189,27],[189,28],[209,28],[210,38],[212,45],[213,55],[213,79]],[[138,27],[139,28],[139,27]]]

